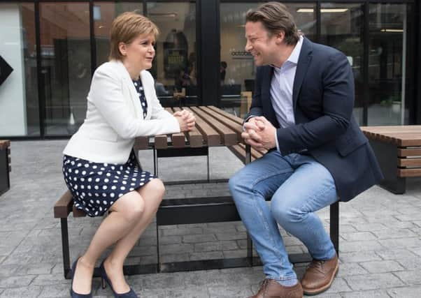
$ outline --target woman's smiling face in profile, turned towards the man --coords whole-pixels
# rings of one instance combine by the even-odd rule
[[[155,57],[155,35],[141,34],[134,38],[131,43],[126,43],[120,47],[124,55],[124,65],[141,70],[152,68],[152,60]]]

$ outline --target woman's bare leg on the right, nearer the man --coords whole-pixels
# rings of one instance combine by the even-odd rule
[[[134,225],[133,228],[120,240],[117,241],[113,251],[108,255],[104,262],[104,267],[113,283],[113,288],[117,293],[124,293],[129,291],[129,285],[127,285],[124,274],[123,274],[123,263],[127,255],[133,248],[138,238],[141,236],[143,231],[148,227],[152,218],[154,218],[159,204],[164,196],[164,184],[159,179],[152,179],[138,190],[138,193],[144,199],[145,209],[140,221]]]

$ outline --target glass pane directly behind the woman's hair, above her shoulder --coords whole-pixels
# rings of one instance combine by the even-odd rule
[[[94,32],[97,48],[97,67],[108,61],[110,54],[111,23],[126,11],[143,13],[141,2],[95,2],[94,3]]]

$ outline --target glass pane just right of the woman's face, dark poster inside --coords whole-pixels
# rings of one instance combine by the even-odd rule
[[[147,9],[160,31],[150,72],[161,104],[197,105],[196,3],[148,2]]]

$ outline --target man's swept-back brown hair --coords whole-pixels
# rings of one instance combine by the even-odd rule
[[[300,38],[294,18],[286,6],[279,2],[267,2],[256,9],[248,10],[245,22],[262,22],[264,28],[269,31],[269,36],[284,31],[287,45],[297,44]]]

